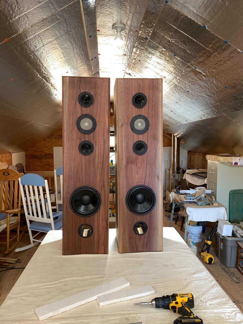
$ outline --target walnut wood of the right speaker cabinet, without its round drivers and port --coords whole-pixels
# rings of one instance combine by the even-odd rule
[[[144,108],[135,108],[132,97],[142,92],[147,97]],[[114,88],[115,161],[116,161],[116,233],[119,253],[162,251],[162,79],[116,79]],[[130,129],[136,115],[148,118],[150,126],[145,134]],[[133,143],[142,140],[147,152],[133,153]],[[126,194],[133,186],[144,184],[156,194],[156,205],[146,215],[136,215],[126,206]],[[148,231],[138,236],[133,225],[144,221]]]

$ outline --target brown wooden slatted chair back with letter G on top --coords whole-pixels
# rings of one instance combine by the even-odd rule
[[[12,169],[0,170],[0,213],[21,208],[18,179],[22,175]]]

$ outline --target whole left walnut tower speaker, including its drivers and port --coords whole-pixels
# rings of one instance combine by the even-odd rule
[[[63,255],[108,253],[110,79],[63,77]]]

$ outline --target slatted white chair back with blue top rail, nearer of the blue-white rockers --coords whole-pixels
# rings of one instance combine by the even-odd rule
[[[44,180],[38,174],[27,173],[19,178],[19,184],[28,227],[29,220],[32,220],[51,223],[52,230],[54,230],[52,205],[47,179]],[[47,202],[44,195],[46,195]]]

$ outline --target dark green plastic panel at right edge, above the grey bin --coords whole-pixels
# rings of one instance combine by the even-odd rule
[[[230,223],[243,221],[243,189],[229,192],[229,221]]]

